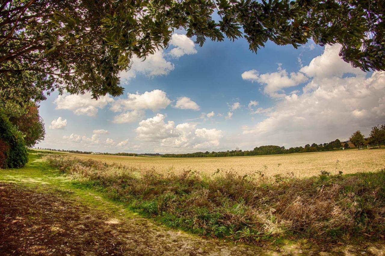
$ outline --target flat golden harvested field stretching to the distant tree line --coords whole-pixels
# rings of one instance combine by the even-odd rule
[[[105,163],[120,163],[139,170],[154,169],[156,171],[174,171],[177,173],[183,170],[193,170],[206,175],[210,175],[218,169],[221,171],[232,169],[240,175],[261,171],[267,176],[294,173],[297,177],[304,177],[318,175],[322,170],[334,174],[335,172],[338,173],[338,171],[357,173],[378,171],[385,168],[385,149],[218,158],[130,157],[72,153],[68,155],[79,158],[92,158]]]

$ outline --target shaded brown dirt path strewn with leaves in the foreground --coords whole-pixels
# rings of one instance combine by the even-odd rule
[[[102,199],[101,199],[102,200]],[[223,243],[169,230],[140,218],[119,218],[86,206],[78,198],[38,193],[0,183],[1,255],[383,255],[384,244],[264,249]],[[117,214],[119,215],[119,214]]]

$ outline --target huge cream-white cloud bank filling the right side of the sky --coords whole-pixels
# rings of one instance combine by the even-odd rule
[[[327,45],[322,55],[301,68],[309,78],[302,93],[285,95],[273,108],[258,108],[255,113],[267,118],[243,134],[278,145],[298,145],[347,139],[355,130],[383,123],[385,72],[367,75],[352,68],[338,56],[339,50],[340,45]]]

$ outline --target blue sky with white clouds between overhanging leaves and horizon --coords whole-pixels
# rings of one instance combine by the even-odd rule
[[[243,39],[199,47],[176,31],[166,50],[121,73],[124,95],[48,96],[36,147],[191,153],[368,136],[385,123],[385,72],[352,68],[340,47],[268,42],[255,54]]]

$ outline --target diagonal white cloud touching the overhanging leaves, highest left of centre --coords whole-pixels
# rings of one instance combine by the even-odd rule
[[[160,49],[154,54],[148,55],[146,59],[132,58],[131,69],[122,72],[120,74],[121,79],[129,81],[131,78],[135,78],[137,74],[150,78],[167,75],[170,71],[174,70],[174,64],[166,60],[167,54],[171,55],[171,57],[179,58],[186,54],[197,53],[194,48],[194,42],[186,35],[173,34],[170,45],[172,47],[170,53],[165,53],[164,50]]]

